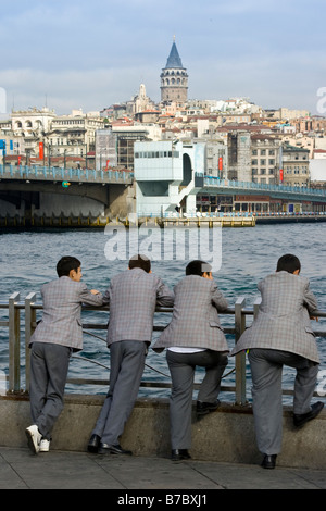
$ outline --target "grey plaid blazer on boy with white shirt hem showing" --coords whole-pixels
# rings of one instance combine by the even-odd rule
[[[172,321],[153,349],[180,346],[228,351],[217,313],[226,310],[228,303],[214,281],[188,275],[175,286],[174,292]]]

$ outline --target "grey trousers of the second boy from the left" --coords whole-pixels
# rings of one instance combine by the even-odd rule
[[[133,411],[141,382],[147,354],[147,342],[121,340],[110,346],[110,387],[93,435],[102,444],[115,446]]]

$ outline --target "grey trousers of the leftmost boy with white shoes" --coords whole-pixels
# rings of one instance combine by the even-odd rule
[[[54,423],[63,409],[63,394],[72,348],[50,342],[33,342],[29,400],[33,424],[43,438],[51,439]]]

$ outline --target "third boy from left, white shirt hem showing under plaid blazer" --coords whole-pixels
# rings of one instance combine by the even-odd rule
[[[154,344],[155,351],[166,348],[172,377],[170,398],[172,460],[189,459],[191,446],[191,404],[196,366],[205,369],[197,400],[201,416],[218,406],[221,378],[227,365],[228,345],[217,311],[227,309],[227,300],[212,277],[212,267],[191,261],[186,276],[175,286],[175,302],[170,325]]]

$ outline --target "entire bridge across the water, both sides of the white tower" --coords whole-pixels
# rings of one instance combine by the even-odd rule
[[[175,185],[171,197],[170,192],[167,196],[140,197],[135,175],[128,171],[2,164],[0,225],[36,225],[34,221],[39,225],[52,225],[54,219],[70,225],[74,223],[73,217],[78,225],[84,224],[83,219],[89,225],[98,223],[99,219],[125,219],[135,211],[138,216],[162,217],[165,213],[174,215],[175,207],[180,203],[189,217],[191,212],[196,214],[196,196],[199,194],[234,196],[235,200],[236,196],[247,199],[251,196],[252,201],[265,197],[266,203],[273,200],[306,202],[311,203],[309,211],[326,211],[326,189],[220,179],[197,172],[192,176],[186,187]],[[190,207],[185,208],[189,198]],[[9,217],[16,220],[9,221]]]

